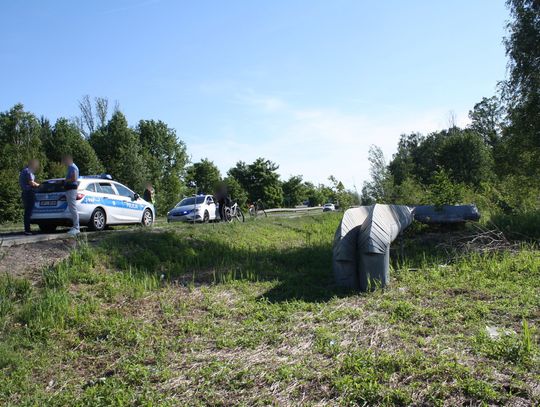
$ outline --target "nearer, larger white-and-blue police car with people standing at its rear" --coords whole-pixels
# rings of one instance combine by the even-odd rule
[[[103,230],[108,225],[151,226],[156,217],[151,203],[108,174],[79,177],[77,211],[81,226],[87,225],[91,230]],[[52,232],[57,226],[71,226],[64,179],[51,179],[39,186],[31,223],[44,232]]]

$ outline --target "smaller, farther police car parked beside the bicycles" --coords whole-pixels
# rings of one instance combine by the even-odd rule
[[[218,208],[212,195],[184,198],[167,213],[167,222],[210,222],[218,218]]]

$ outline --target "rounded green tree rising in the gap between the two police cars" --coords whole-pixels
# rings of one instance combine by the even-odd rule
[[[141,120],[136,128],[141,151],[148,168],[147,181],[156,190],[158,213],[173,207],[185,192],[182,178],[188,162],[186,145],[176,131],[162,121]]]

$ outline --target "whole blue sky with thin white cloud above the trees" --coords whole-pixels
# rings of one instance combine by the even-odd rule
[[[223,172],[262,156],[358,188],[370,144],[465,125],[506,74],[503,0],[0,0],[0,18],[0,110],[105,96]]]

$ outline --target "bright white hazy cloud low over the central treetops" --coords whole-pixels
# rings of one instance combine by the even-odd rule
[[[220,142],[190,144],[193,159],[208,157],[225,173],[237,161],[265,157],[280,165],[287,178],[301,174],[305,180],[326,182],[335,175],[349,188],[361,188],[368,179],[368,149],[382,148],[387,160],[403,133],[429,133],[448,127],[449,110],[411,111],[391,108],[377,115],[332,108],[297,108],[275,96],[253,91],[237,94],[235,103],[258,110],[258,121],[223,128]],[[458,125],[466,114],[456,114]],[[253,136],[257,135],[257,136]]]

